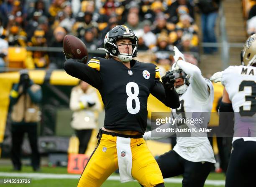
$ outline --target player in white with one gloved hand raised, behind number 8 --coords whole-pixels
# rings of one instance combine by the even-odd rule
[[[172,110],[172,116],[174,117],[182,112],[182,115],[185,115],[183,117],[186,118],[199,113],[204,116],[206,127],[212,110],[212,82],[202,77],[197,66],[184,61],[184,55],[179,52],[177,47],[174,47],[174,53],[176,63],[172,65],[171,71],[166,72],[166,75],[167,77],[169,75],[175,76],[174,89],[179,94],[180,106]],[[164,124],[162,128],[168,126],[172,126],[172,124]],[[176,127],[180,127],[180,124],[176,124]],[[192,128],[195,125],[187,124],[186,127]],[[157,135],[154,134],[155,132],[156,129],[146,132],[143,138],[154,140],[174,134],[168,132]],[[190,133],[189,137],[182,133],[176,133],[176,135],[177,144],[173,150],[160,155],[156,159],[163,177],[183,175],[183,187],[203,187],[211,167],[215,163],[214,153],[207,134],[202,133],[195,136],[195,133]]]

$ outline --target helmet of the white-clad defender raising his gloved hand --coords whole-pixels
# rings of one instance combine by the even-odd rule
[[[174,65],[172,65],[172,69],[170,72],[172,73],[172,75],[174,75],[175,78],[174,89],[179,95],[183,94],[189,86],[189,76],[177,65],[177,63],[174,63]],[[183,82],[177,85],[177,82],[179,81]]]

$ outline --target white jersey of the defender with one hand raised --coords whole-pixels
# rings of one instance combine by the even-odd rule
[[[203,77],[202,77],[203,78]],[[210,112],[212,110],[212,102],[213,102],[213,86],[210,80],[204,79],[210,88],[210,95],[207,99],[202,99],[203,86],[193,85],[197,82],[191,80],[190,85],[187,90],[179,97],[180,99],[180,107],[177,109],[172,109],[172,114],[175,116],[177,112],[189,112],[185,113],[185,115],[192,115],[192,112],[203,112],[204,122],[207,123],[210,121]],[[193,88],[194,86],[194,88]],[[192,116],[186,116],[192,117]],[[189,128],[192,128],[192,125],[187,125]],[[191,162],[212,162],[215,163],[214,153],[212,150],[212,146],[207,138],[207,133],[200,132],[198,135],[195,132],[192,133],[193,137],[179,137],[179,133],[177,134],[177,145],[174,146],[174,151],[177,152],[181,157]]]

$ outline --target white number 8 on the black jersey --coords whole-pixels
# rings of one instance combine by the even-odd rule
[[[133,87],[134,93],[131,88]],[[126,100],[126,107],[130,114],[137,114],[140,111],[140,101],[138,99],[138,85],[135,82],[128,82],[126,85],[126,94],[128,98]],[[133,108],[133,100],[135,100],[135,108]]]

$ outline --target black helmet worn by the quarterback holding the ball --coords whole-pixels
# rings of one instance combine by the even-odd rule
[[[131,45],[132,51],[129,53],[120,53],[118,50],[117,41],[121,38],[128,38],[131,40],[131,44],[123,44],[123,45]],[[105,51],[108,55],[118,57],[122,62],[129,62],[133,57],[137,56],[138,52],[138,37],[134,35],[133,31],[126,27],[125,25],[117,25],[110,30],[104,39],[104,47]],[[102,49],[102,48],[100,48]]]

